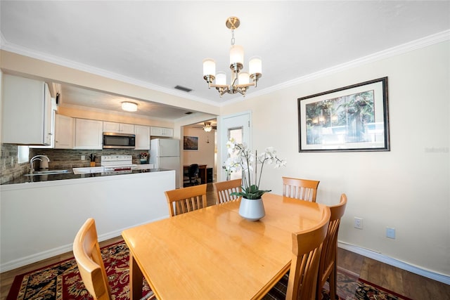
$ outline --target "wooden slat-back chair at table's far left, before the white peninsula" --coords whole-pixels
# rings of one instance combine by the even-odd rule
[[[170,216],[184,214],[207,206],[206,184],[167,190],[164,193],[169,205]]]

